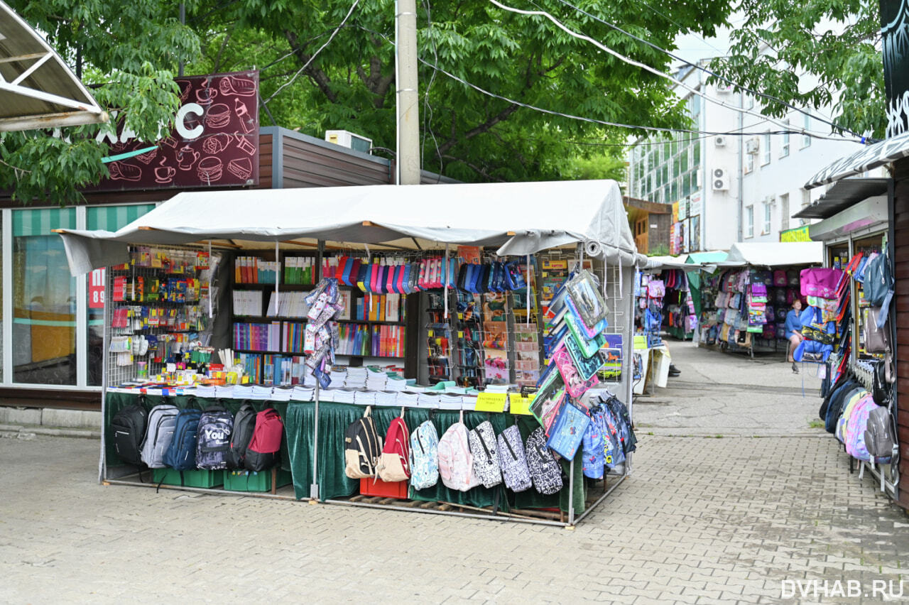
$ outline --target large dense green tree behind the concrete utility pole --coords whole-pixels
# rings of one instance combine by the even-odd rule
[[[356,5],[315,59],[352,0],[246,0],[219,8],[222,4],[213,0],[195,11],[197,29],[208,33],[195,71],[258,65],[265,99],[299,71],[293,84],[267,103],[278,124],[319,137],[326,129],[343,128],[376,146],[395,147],[394,0]],[[426,169],[468,181],[558,179],[573,174],[576,157],[603,155],[604,149],[621,153],[621,147],[577,144],[602,136],[602,124],[543,114],[506,99],[604,122],[687,125],[684,108],[664,79],[566,35],[541,16],[514,15],[482,0],[418,4]],[[667,55],[558,0],[513,4],[531,10],[542,5],[575,31],[669,70]],[[584,10],[664,48],[673,48],[681,32],[713,35],[729,11],[728,2],[716,0],[674,3],[659,15],[642,10],[642,4],[598,0]],[[436,72],[434,65],[505,98],[482,94]],[[621,130],[629,133],[643,131]]]

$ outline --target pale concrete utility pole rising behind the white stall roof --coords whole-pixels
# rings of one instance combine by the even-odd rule
[[[396,184],[420,184],[420,116],[416,75],[416,0],[395,3]]]

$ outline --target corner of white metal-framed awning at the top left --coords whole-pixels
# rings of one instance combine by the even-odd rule
[[[0,132],[106,121],[54,49],[0,2]]]

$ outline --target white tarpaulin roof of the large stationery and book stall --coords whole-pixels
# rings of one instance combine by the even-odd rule
[[[494,246],[524,255],[584,243],[589,256],[644,261],[614,181],[368,185],[179,193],[119,231],[61,230],[78,275],[128,261],[126,244],[230,241],[243,248],[323,240]]]

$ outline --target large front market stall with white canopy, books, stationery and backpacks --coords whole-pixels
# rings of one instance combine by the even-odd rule
[[[644,259],[614,182],[180,193],[118,232],[61,234],[74,274],[108,267],[102,481],[143,484],[111,426],[164,402],[203,419],[220,402],[236,422],[245,408],[276,412],[270,453],[285,474],[267,488],[295,499],[574,525],[631,470]],[[358,475],[347,431],[361,420],[386,449],[408,441],[391,439],[396,428],[431,426],[442,481]],[[575,436],[601,425],[600,445],[581,447]],[[452,487],[452,430],[490,463],[496,437],[499,451],[524,447],[533,488],[501,455],[482,485]],[[416,453],[386,453],[422,468]],[[259,481],[148,466],[159,486]],[[293,494],[274,489],[282,481]]]

